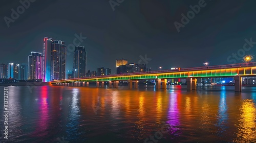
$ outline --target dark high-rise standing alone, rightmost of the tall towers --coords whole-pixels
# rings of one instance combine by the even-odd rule
[[[74,65],[73,65],[73,77],[84,78],[86,77],[86,62],[87,54],[84,46],[76,46],[74,51]]]

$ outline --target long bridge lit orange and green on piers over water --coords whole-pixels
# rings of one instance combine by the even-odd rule
[[[241,92],[242,77],[250,76],[256,76],[256,62],[55,80],[51,81],[51,84],[62,86],[89,86],[89,82],[96,82],[97,87],[103,87],[104,82],[109,82],[109,87],[113,85],[114,88],[118,88],[119,81],[127,81],[129,88],[138,88],[138,80],[155,79],[156,89],[166,89],[167,79],[185,78],[187,90],[196,90],[198,78],[232,77],[234,78],[234,91]]]

